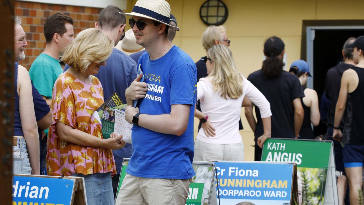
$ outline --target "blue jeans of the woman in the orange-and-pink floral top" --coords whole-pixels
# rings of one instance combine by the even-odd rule
[[[88,205],[112,205],[114,193],[112,192],[111,172],[95,174],[72,174],[72,177],[83,177],[86,186]]]

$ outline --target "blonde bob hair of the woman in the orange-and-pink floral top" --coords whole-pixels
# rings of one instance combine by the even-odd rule
[[[106,61],[114,47],[114,41],[101,30],[88,28],[81,31],[63,54],[63,62],[84,73],[91,63]]]

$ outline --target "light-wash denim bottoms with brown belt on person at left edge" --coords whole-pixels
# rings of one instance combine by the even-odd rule
[[[13,146],[13,174],[31,174],[27,143],[24,138],[17,138],[17,145]]]

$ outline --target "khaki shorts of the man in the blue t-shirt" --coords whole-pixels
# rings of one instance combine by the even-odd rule
[[[155,179],[126,174],[115,205],[185,205],[191,179]]]

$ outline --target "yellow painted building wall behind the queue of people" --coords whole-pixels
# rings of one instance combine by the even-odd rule
[[[201,36],[207,28],[199,18],[205,0],[167,0],[178,27],[173,43],[194,61],[206,55]],[[276,35],[286,45],[287,65],[300,59],[302,20],[363,19],[363,0],[222,0],[229,9],[224,26],[231,41],[230,49],[238,70],[243,76],[261,68],[263,45],[266,38]],[[130,12],[136,0],[128,0]],[[129,29],[130,27],[127,27]],[[245,160],[254,160],[254,135],[242,109]],[[198,120],[195,120],[195,136]]]

